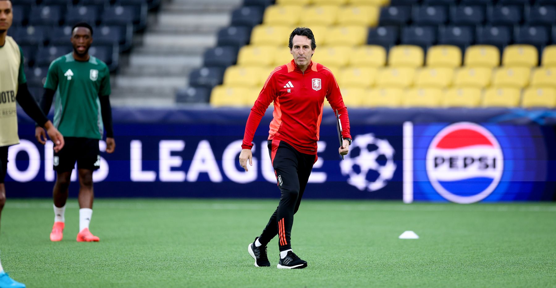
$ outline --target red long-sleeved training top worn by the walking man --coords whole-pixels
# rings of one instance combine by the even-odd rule
[[[301,153],[316,154],[325,97],[340,114],[342,137],[351,138],[347,108],[336,78],[328,68],[311,61],[309,68],[301,72],[294,60],[276,67],[251,108],[241,148],[252,148],[255,130],[266,108],[274,101],[269,140],[283,140]]]

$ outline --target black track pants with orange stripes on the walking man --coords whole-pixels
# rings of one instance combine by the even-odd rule
[[[274,236],[279,236],[280,251],[291,249],[290,234],[294,224],[294,214],[299,209],[301,197],[316,155],[300,153],[291,145],[280,140],[269,140],[269,152],[272,167],[276,173],[281,196],[278,208],[270,217],[259,241],[266,245]]]

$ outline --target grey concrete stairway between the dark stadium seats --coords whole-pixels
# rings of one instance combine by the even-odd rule
[[[163,1],[150,15],[144,34],[121,72],[112,81],[114,105],[168,107],[176,89],[187,86],[192,69],[202,65],[203,52],[216,45],[216,32],[230,24],[230,11],[242,0]]]

